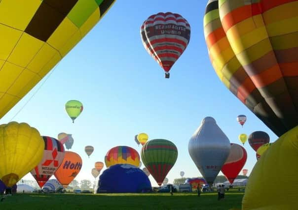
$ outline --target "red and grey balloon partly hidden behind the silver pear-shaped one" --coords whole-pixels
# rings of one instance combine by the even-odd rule
[[[230,153],[223,164],[222,172],[232,184],[246,163],[247,152],[238,144],[231,143]]]

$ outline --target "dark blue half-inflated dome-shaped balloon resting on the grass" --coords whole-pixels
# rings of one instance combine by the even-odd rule
[[[150,180],[138,167],[116,164],[99,177],[97,193],[139,193],[152,191]]]

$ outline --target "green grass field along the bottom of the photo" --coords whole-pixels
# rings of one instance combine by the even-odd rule
[[[229,210],[241,209],[243,192],[147,194],[38,194],[19,193],[0,202],[0,210]]]

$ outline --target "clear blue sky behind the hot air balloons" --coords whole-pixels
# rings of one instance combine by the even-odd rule
[[[180,178],[180,171],[185,177],[201,176],[188,154],[188,141],[207,116],[217,120],[231,143],[240,144],[239,134],[256,130],[267,132],[270,142],[277,139],[217,77],[203,33],[207,0],[127,2],[116,1],[50,76],[46,75],[0,122],[27,122],[41,135],[55,138],[60,132],[73,134],[72,151],[83,159],[76,180],[94,180],[94,162],[104,162],[114,146],[130,146],[140,152],[134,136],[141,132],[148,133],[149,139],[164,138],[177,146],[179,155],[167,176],[169,182]],[[170,79],[165,79],[164,71],[142,45],[140,26],[150,15],[168,11],[189,22],[191,35],[186,51],[170,71]],[[64,109],[71,99],[84,106],[74,124]],[[243,128],[236,121],[239,114],[248,118]],[[84,152],[86,145],[95,148],[90,158]],[[244,168],[250,173],[256,153],[248,142],[244,148],[248,152]],[[33,177],[29,174],[24,179]]]

